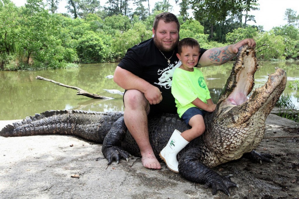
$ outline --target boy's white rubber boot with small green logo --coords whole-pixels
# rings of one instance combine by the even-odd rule
[[[184,149],[189,142],[181,136],[181,132],[174,130],[167,145],[160,152],[161,159],[166,163],[168,169],[175,173],[179,173],[179,162],[176,159],[176,155]]]

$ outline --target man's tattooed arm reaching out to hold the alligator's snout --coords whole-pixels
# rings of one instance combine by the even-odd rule
[[[239,48],[245,44],[250,47],[255,47],[256,43],[254,39],[244,39],[228,46],[211,48],[202,54],[202,57],[199,59],[198,66],[203,67],[224,64],[233,59],[238,53]]]

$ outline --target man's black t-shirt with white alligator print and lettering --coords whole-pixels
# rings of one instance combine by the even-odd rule
[[[206,49],[200,49],[199,59]],[[176,113],[176,103],[171,94],[171,82],[173,72],[181,65],[176,53],[177,47],[173,52],[163,52],[170,63],[155,46],[154,40],[149,39],[129,48],[124,58],[118,66],[132,74],[146,80],[150,84],[158,87],[162,92],[163,100],[151,106],[151,111],[157,108],[158,112]],[[171,57],[171,58],[170,58]]]

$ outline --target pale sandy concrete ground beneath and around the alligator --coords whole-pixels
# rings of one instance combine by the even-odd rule
[[[0,121],[0,129],[12,121]],[[299,123],[270,114],[265,136],[299,135]],[[214,168],[233,174],[231,197],[170,172],[145,169],[132,157],[108,166],[100,144],[71,136],[0,136],[0,198],[299,198],[299,138],[264,139],[258,152],[273,163],[245,158]],[[78,175],[72,177],[72,175]]]

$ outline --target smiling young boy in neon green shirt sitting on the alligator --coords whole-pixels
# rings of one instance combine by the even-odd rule
[[[185,38],[179,42],[176,54],[182,63],[174,71],[171,93],[175,97],[179,117],[191,128],[182,133],[175,129],[159,154],[167,167],[175,173],[179,173],[177,154],[191,140],[205,132],[205,113],[213,112],[216,108],[202,72],[194,68],[198,63],[199,49],[199,43],[195,39]]]

